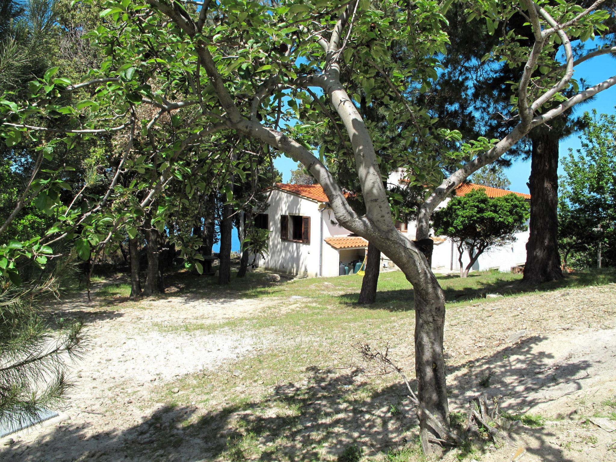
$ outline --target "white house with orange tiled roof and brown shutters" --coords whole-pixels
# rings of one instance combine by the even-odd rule
[[[390,182],[403,182],[402,177],[390,177]],[[464,184],[456,188],[456,195],[468,193],[472,188],[484,188],[489,197],[510,193],[497,188]],[[516,193],[530,200],[530,195]],[[445,199],[438,208],[447,205]],[[270,230],[269,255],[257,256],[256,265],[280,273],[318,277],[349,274],[359,269],[363,262],[368,241],[353,235],[340,226],[330,208],[328,198],[321,185],[294,185],[277,183],[269,192],[269,205],[256,217],[258,226]],[[397,223],[402,233],[415,239],[415,223]],[[512,266],[526,260],[526,242],[529,233],[516,235],[511,245],[487,251],[477,259],[473,270],[496,269],[509,271]],[[435,272],[459,270],[458,251],[445,237],[432,237],[432,269]],[[382,256],[383,266],[392,266]],[[464,255],[463,265],[468,263]],[[359,264],[359,265],[358,265]]]

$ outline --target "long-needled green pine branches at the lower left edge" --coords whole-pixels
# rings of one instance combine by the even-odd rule
[[[65,260],[42,282],[0,288],[0,423],[34,423],[68,398],[67,370],[83,352],[83,324],[48,322],[41,301],[59,296],[69,269]]]

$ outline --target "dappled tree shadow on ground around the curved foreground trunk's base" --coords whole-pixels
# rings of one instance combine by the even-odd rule
[[[581,389],[583,371],[590,367],[586,361],[563,363],[555,371],[556,379],[549,370],[535,373],[555,359],[535,348],[543,340],[534,336],[450,367],[450,408],[464,412],[469,400],[484,393],[511,400],[516,409],[531,407],[549,401],[550,389],[567,378]],[[493,378],[488,387],[480,387],[477,381],[485,370],[492,371]],[[196,387],[199,380],[197,376]],[[222,383],[224,377],[220,380]],[[415,388],[415,382],[411,386]],[[205,383],[200,389],[207,397]],[[537,394],[540,389],[546,393]],[[325,456],[342,461],[349,448],[357,446],[364,455],[377,455],[404,447],[415,435],[411,431],[417,423],[415,411],[403,384],[379,389],[354,368],[341,373],[308,367],[302,381],[277,384],[264,395],[242,396],[243,390],[242,386],[235,389],[228,398],[233,402],[223,400],[205,412],[198,405],[168,401],[146,412],[140,423],[121,431],[92,435],[87,428],[69,422],[38,439],[27,453],[22,452],[22,460],[54,460],[49,455],[64,448],[70,456],[55,460],[196,462],[220,457],[228,461],[306,461]],[[174,396],[182,399],[181,394]],[[511,436],[523,434],[533,435],[537,446],[527,447],[527,452],[541,460],[571,460],[564,450],[548,444],[553,437],[549,429],[516,427],[510,432]],[[18,450],[20,447],[15,448]]]

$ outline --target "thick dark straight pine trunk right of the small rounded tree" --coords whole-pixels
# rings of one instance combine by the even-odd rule
[[[530,237],[523,282],[562,279],[558,253],[558,134],[541,127],[532,135]]]

